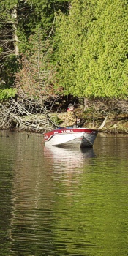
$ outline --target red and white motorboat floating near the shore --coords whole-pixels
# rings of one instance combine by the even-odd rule
[[[47,146],[79,146],[92,147],[98,131],[89,128],[58,128],[44,133]]]

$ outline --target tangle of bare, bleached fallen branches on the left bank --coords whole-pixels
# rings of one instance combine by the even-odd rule
[[[49,113],[36,99],[11,98],[0,105],[0,128],[44,132],[56,127]]]

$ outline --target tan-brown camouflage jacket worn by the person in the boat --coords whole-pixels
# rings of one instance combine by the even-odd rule
[[[67,113],[64,118],[63,124],[61,124],[62,127],[72,127],[73,125],[77,124],[77,116],[75,115],[74,111],[67,110]]]

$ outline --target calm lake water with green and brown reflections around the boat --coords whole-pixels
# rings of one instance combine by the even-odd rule
[[[128,135],[81,151],[1,131],[0,255],[128,255]]]

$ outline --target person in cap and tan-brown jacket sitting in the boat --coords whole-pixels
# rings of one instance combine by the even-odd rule
[[[78,127],[79,122],[80,122],[80,119],[75,115],[74,105],[70,103],[68,105],[65,120],[62,125],[64,127]]]

